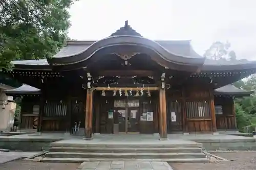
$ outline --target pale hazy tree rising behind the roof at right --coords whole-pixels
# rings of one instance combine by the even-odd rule
[[[216,41],[211,44],[211,46],[206,50],[204,57],[220,60],[220,59],[228,59],[228,60],[236,60],[237,56],[234,51],[230,50],[230,43]]]

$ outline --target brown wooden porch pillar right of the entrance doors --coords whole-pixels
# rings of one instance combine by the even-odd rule
[[[160,140],[167,139],[165,89],[159,90],[159,134]]]

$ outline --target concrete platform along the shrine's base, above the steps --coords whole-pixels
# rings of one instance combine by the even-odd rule
[[[131,137],[132,136],[132,137]],[[12,135],[12,136],[0,136],[0,148],[10,149],[10,150],[26,150],[26,151],[39,151],[46,150],[50,148],[50,143],[59,140],[69,140],[75,141],[79,139],[88,144],[92,142],[100,143],[110,143],[111,141],[119,142],[129,142],[134,141],[146,143],[172,143],[181,142],[182,144],[197,142],[203,145],[207,151],[216,150],[256,150],[256,138],[245,137],[238,135],[228,135],[228,134],[168,134],[167,141],[158,140],[158,135],[94,135],[93,140],[83,140],[81,136],[71,136],[64,133],[42,133],[42,134],[23,134],[23,135]],[[65,141],[62,141],[65,143]],[[84,143],[82,143],[84,144]]]

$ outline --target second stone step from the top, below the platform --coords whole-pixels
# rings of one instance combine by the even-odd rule
[[[81,147],[52,147],[50,152],[79,152],[79,153],[201,153],[201,148],[81,148]]]

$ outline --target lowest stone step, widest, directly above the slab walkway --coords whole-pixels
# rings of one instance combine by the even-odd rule
[[[112,158],[42,158],[41,162],[62,162],[62,163],[82,163],[84,161],[165,161],[180,163],[209,162],[207,158],[173,158],[173,159],[112,159]]]

